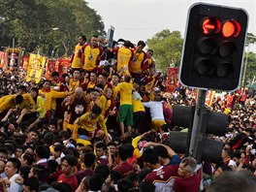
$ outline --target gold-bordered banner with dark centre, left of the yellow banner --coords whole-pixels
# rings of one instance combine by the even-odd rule
[[[6,63],[10,71],[16,71],[20,66],[21,51],[19,48],[6,49]]]

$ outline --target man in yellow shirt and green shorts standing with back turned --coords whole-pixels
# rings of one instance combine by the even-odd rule
[[[117,114],[117,122],[119,122],[122,137],[124,137],[124,125],[127,131],[131,131],[133,125],[133,105],[132,91],[133,84],[130,82],[131,76],[125,75],[124,81],[120,82],[114,89],[113,97],[116,98],[120,94],[120,107]]]

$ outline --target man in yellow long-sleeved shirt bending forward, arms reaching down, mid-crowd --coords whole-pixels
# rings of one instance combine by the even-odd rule
[[[100,126],[101,130],[98,130],[97,133],[97,124]],[[72,138],[77,140],[79,135],[87,136],[88,138],[93,137],[106,137],[106,142],[109,142],[108,139],[108,130],[104,122],[104,117],[101,115],[101,108],[97,105],[93,106],[91,112],[86,112],[77,118],[74,122],[74,130]]]

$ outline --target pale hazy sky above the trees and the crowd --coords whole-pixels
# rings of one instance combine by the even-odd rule
[[[102,16],[105,30],[114,27],[113,39],[130,40],[137,44],[156,33],[169,29],[185,33],[187,11],[194,0],[85,0]],[[248,32],[256,35],[256,0],[205,0],[202,2],[242,8],[249,15]],[[256,52],[256,44],[249,50]]]

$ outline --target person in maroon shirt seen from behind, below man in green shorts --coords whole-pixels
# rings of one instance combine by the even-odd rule
[[[118,148],[118,165],[113,168],[114,171],[119,172],[122,176],[126,176],[133,171],[133,165],[127,162],[129,158],[128,148],[125,144]]]

